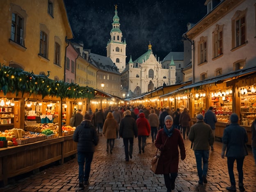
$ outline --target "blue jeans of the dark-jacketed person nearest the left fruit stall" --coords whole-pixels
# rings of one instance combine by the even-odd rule
[[[79,183],[89,180],[89,175],[91,171],[91,161],[94,152],[78,152],[78,179]],[[85,165],[85,171],[84,171]]]

